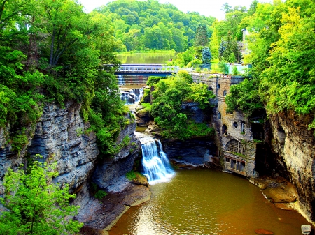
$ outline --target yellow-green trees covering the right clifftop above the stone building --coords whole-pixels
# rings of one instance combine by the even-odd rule
[[[251,78],[231,87],[226,97],[230,109],[241,109],[248,116],[263,107],[267,114],[291,110],[314,116],[314,8],[311,0],[255,3],[251,14],[239,17],[238,24],[248,30],[245,46],[250,53],[244,62],[253,68]],[[229,10],[230,14],[241,13]],[[214,24],[213,43],[225,24],[228,20]],[[230,31],[223,38],[230,35],[240,39]],[[314,127],[314,121],[309,123]]]

